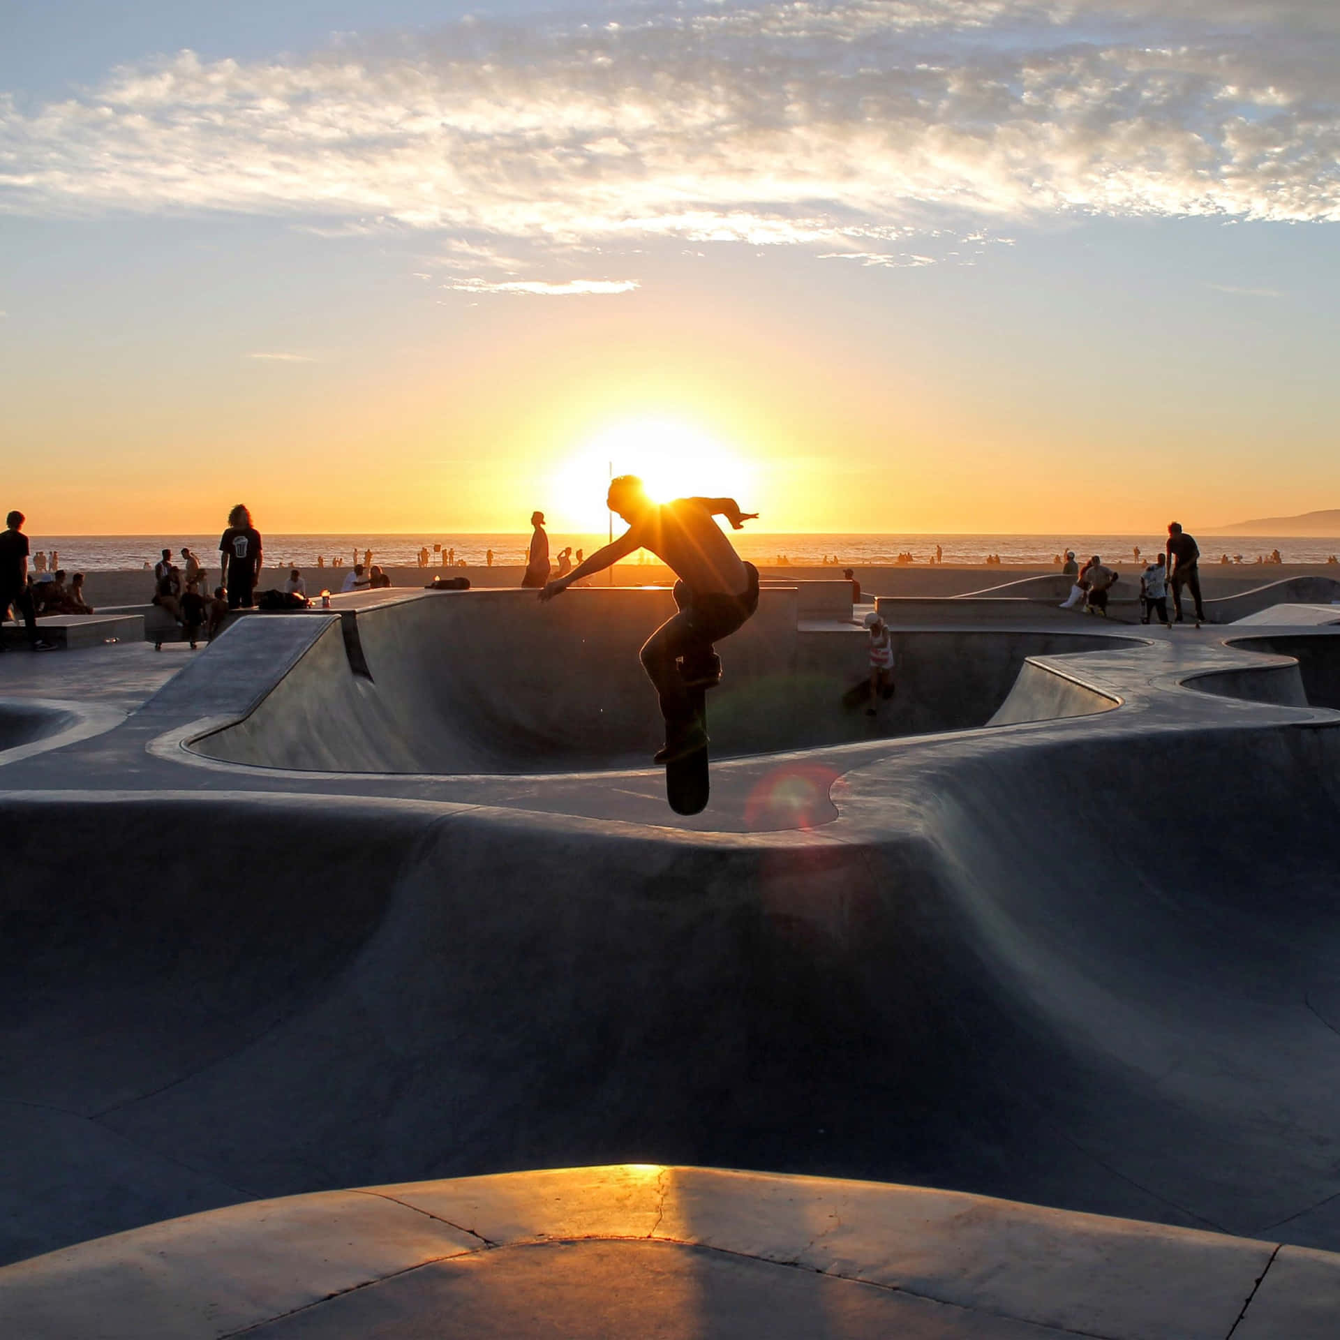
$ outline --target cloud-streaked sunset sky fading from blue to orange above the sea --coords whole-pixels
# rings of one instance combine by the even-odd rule
[[[507,528],[650,419],[776,529],[1335,507],[1337,158],[1308,0],[11,5],[0,449],[48,532]]]

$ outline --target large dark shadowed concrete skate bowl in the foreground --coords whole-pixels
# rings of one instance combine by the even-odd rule
[[[604,1162],[1336,1248],[1337,762],[1306,722],[972,732],[847,773],[823,829],[709,839],[12,793],[0,1258],[257,1195]],[[1179,816],[1156,843],[1151,812]]]

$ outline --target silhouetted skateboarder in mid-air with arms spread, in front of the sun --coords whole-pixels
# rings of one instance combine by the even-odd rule
[[[736,553],[713,517],[724,516],[738,531],[758,513],[741,512],[734,498],[653,503],[642,480],[632,474],[620,474],[610,482],[607,501],[610,511],[628,523],[628,529],[565,576],[549,582],[540,599],[552,600],[574,582],[602,572],[636,549],[649,549],[679,578],[674,586],[679,610],[647,638],[641,658],[666,721],[666,742],[655,761],[674,765],[701,754],[706,804],[708,729],[702,691],[721,679],[713,643],[734,632],[758,608],[758,570]],[[675,805],[673,777],[670,789]],[[690,797],[683,799],[691,803]]]

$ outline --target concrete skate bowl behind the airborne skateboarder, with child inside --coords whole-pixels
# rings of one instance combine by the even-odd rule
[[[346,612],[314,632],[244,720],[190,748],[226,762],[318,772],[646,766],[661,744],[661,718],[636,651],[673,610],[663,590],[576,590],[547,606],[531,592],[470,591]],[[898,695],[872,722],[842,705],[868,674],[863,630],[797,631],[795,592],[765,590],[758,614],[721,647],[725,682],[709,697],[713,753],[982,726],[1028,657],[1115,642],[1048,631],[895,632]],[[1111,706],[1075,686],[1045,714]]]

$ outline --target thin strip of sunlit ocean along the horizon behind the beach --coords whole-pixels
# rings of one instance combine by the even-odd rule
[[[1000,555],[1002,564],[1051,563],[1053,555],[1073,549],[1083,561],[1092,553],[1120,563],[1134,561],[1134,549],[1142,555],[1155,555],[1163,548],[1166,536],[1146,535],[779,535],[753,532],[745,527],[734,532],[732,540],[741,556],[757,564],[772,565],[785,559],[792,565],[817,565],[824,559],[836,557],[850,567],[884,567],[896,561],[899,553],[911,553],[915,563],[926,563],[939,544],[945,563],[982,563],[988,553]],[[169,545],[176,555],[189,545],[201,556],[206,567],[217,564],[218,533],[209,535],[32,535],[32,548],[56,549],[59,561],[67,571],[107,571],[151,567],[159,549]],[[293,563],[315,567],[322,555],[327,564],[335,555],[344,561],[362,560],[363,551],[373,551],[373,561],[387,567],[413,567],[421,547],[431,553],[437,567],[442,549],[454,549],[457,560],[476,565],[485,561],[489,549],[498,565],[515,565],[524,560],[529,532],[505,535],[265,535],[265,563],[276,565]],[[592,553],[602,544],[603,535],[570,535],[549,531],[549,552],[572,545]],[[1198,533],[1202,563],[1218,563],[1226,553],[1253,563],[1260,555],[1278,549],[1285,563],[1325,563],[1340,552],[1340,539],[1301,539],[1289,536],[1217,536]],[[632,561],[636,561],[634,559]]]

